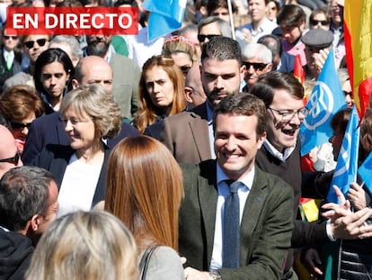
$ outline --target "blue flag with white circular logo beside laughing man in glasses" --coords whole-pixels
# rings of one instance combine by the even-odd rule
[[[300,127],[301,156],[328,142],[332,136],[332,116],[345,104],[331,50],[306,104],[310,112]]]

